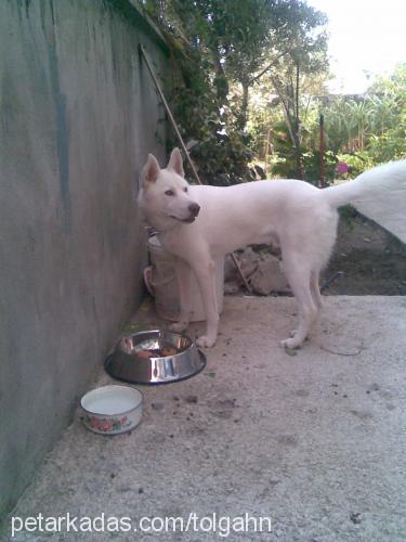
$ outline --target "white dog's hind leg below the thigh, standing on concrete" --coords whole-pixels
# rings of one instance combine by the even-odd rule
[[[285,273],[290,288],[299,308],[299,325],[292,337],[285,339],[280,346],[286,348],[298,348],[307,337],[310,328],[317,318],[318,304],[312,295],[312,272],[301,264],[299,258],[286,258],[284,260]],[[316,295],[316,294],[315,294]]]

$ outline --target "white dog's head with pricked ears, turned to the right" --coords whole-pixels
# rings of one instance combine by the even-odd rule
[[[165,169],[160,169],[155,156],[149,154],[141,177],[139,204],[150,225],[165,231],[195,221],[200,207],[189,197],[179,149],[172,151]]]

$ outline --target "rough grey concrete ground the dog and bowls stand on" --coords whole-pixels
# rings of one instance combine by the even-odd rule
[[[139,386],[144,415],[131,434],[94,435],[78,411],[13,516],[89,517],[104,532],[84,520],[86,532],[63,524],[13,540],[199,541],[228,530],[230,540],[406,540],[406,298],[326,298],[312,340],[292,356],[278,340],[293,313],[291,298],[226,297],[206,370]],[[129,330],[158,319],[144,306]],[[95,385],[108,382],[101,372]],[[271,532],[265,520],[254,532],[260,516]],[[131,518],[132,531],[117,532],[114,517],[125,529]],[[178,532],[153,532],[166,517],[180,518]]]

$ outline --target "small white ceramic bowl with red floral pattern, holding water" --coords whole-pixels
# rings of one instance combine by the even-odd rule
[[[86,393],[80,401],[84,425],[102,435],[133,429],[141,422],[142,395],[130,386],[103,386]]]

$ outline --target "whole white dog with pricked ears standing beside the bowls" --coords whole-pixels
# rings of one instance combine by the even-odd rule
[[[176,257],[181,313],[172,328],[184,331],[189,322],[182,283],[192,268],[207,319],[206,334],[197,345],[211,347],[219,326],[213,259],[249,244],[276,244],[299,306],[299,325],[281,345],[299,347],[322,306],[318,279],[336,241],[337,208],[351,203],[405,242],[405,196],[406,160],[324,190],[297,180],[220,188],[189,185],[178,149],[166,169],[149,154],[139,204],[162,246]]]

